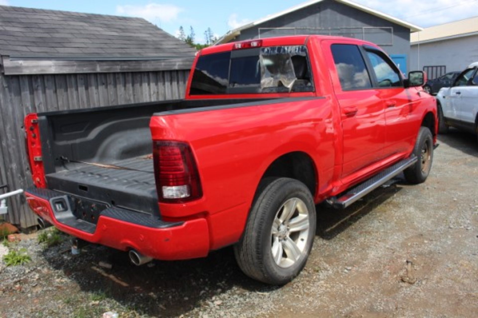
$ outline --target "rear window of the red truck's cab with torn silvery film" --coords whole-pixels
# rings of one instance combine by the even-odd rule
[[[200,56],[191,95],[313,92],[305,46],[275,46]]]

